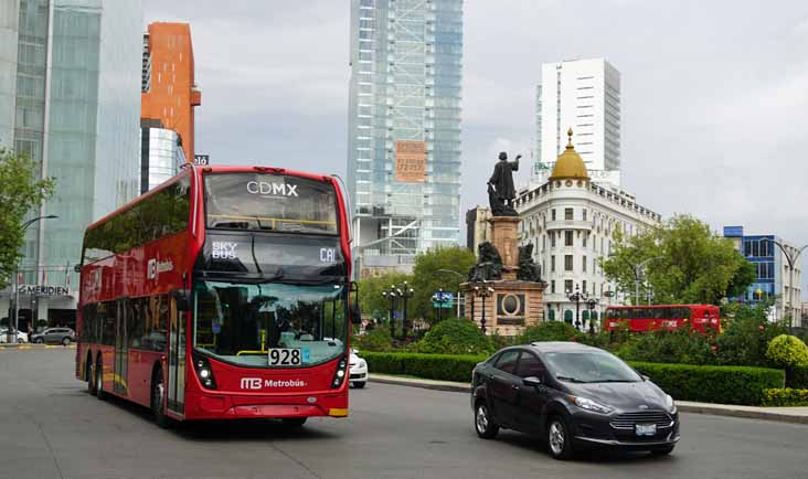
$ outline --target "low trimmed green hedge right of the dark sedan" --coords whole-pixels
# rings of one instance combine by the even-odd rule
[[[780,370],[751,366],[630,363],[679,401],[756,406],[764,390],[783,387]]]

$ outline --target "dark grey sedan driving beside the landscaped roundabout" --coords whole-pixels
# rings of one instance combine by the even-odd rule
[[[673,398],[607,351],[574,342],[506,348],[472,373],[475,429],[500,428],[544,438],[556,459],[587,448],[673,451]]]

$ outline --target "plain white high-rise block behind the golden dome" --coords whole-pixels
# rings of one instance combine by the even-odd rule
[[[542,65],[536,91],[533,183],[546,180],[575,130],[578,155],[593,181],[620,184],[620,72],[604,58]]]

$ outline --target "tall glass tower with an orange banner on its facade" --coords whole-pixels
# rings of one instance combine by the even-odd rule
[[[461,0],[353,0],[348,188],[361,276],[459,241]]]

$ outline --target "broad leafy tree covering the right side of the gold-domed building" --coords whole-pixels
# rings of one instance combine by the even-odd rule
[[[661,304],[719,304],[745,290],[754,270],[727,238],[688,215],[673,216],[635,236],[615,234],[604,273],[624,291],[635,290],[634,267],[644,262],[640,297],[647,287]]]

